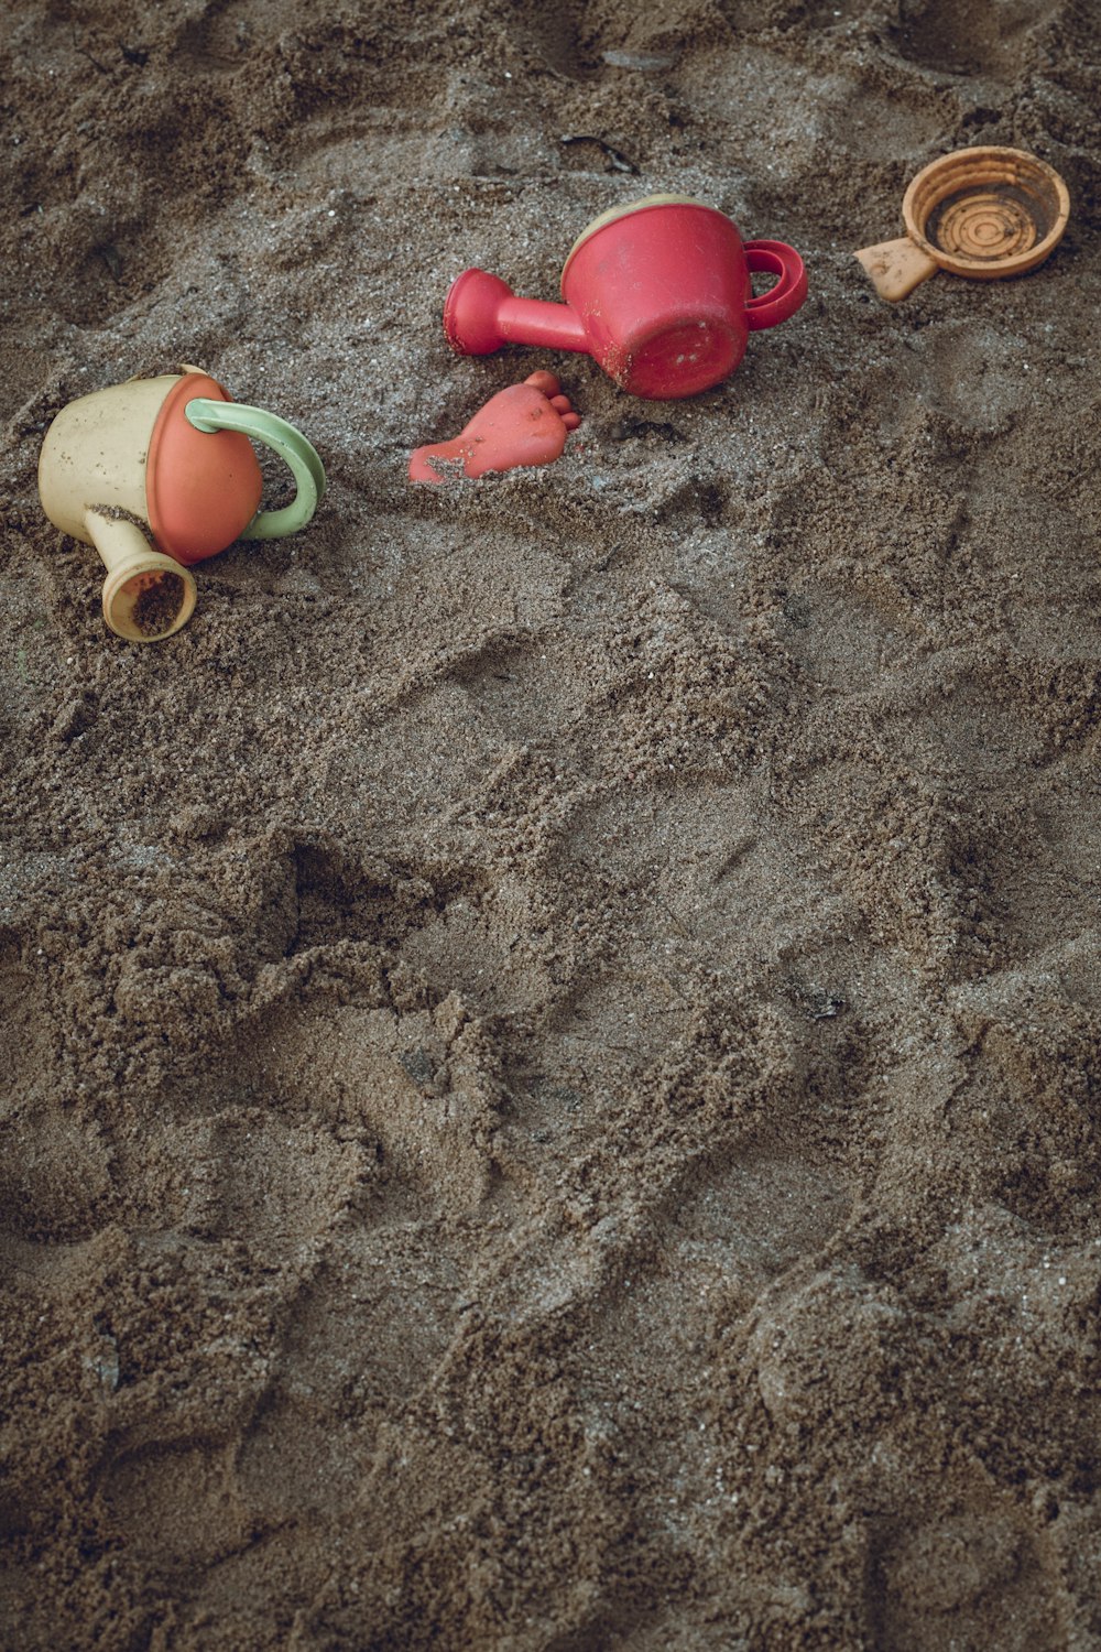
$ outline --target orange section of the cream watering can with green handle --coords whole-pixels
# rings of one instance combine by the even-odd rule
[[[157,544],[188,567],[239,539],[259,510],[262,476],[248,436],[201,431],[185,408],[229,401],[206,373],[183,373],[157,415],[145,461],[145,504]]]

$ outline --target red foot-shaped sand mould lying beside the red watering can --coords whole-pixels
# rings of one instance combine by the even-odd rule
[[[446,482],[451,476],[485,476],[522,464],[550,464],[581,423],[569,396],[553,373],[532,373],[508,385],[480,408],[452,441],[418,448],[409,459],[409,481]]]

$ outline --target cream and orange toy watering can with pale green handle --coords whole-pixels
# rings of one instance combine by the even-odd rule
[[[291,468],[297,492],[282,510],[259,509],[249,438]],[[193,563],[234,539],[294,534],[324,491],[325,471],[305,436],[274,413],[231,401],[196,367],[69,401],[38,459],[43,510],[63,534],[96,547],[107,568],[104,620],[137,643],[172,636],[190,620]]]

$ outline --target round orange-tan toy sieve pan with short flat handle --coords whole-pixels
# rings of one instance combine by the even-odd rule
[[[959,149],[913,178],[906,235],[855,256],[883,299],[905,299],[947,269],[1000,281],[1035,269],[1063,238],[1070,193],[1058,172],[1023,149]]]

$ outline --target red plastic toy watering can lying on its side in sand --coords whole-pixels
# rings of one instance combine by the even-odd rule
[[[751,271],[777,278],[753,296]],[[728,378],[749,332],[776,327],[807,296],[802,259],[782,241],[746,241],[721,211],[687,195],[612,206],[583,230],[561,273],[565,304],[518,299],[467,269],[444,304],[459,355],[536,344],[593,355],[636,396],[692,396]]]

